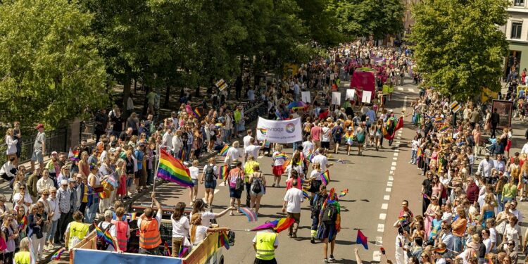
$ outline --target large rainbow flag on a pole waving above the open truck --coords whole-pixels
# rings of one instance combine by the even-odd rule
[[[164,149],[160,149],[160,153],[160,165],[157,176],[163,180],[180,184],[182,187],[194,187],[189,168],[183,165],[179,159],[170,156]]]

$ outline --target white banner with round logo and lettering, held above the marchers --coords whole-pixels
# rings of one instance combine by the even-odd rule
[[[292,120],[268,120],[258,117],[257,139],[271,143],[293,143],[303,141],[301,118]]]

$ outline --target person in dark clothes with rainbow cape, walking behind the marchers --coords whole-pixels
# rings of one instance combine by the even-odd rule
[[[332,188],[330,194],[323,203],[319,214],[319,229],[317,237],[324,243],[322,247],[325,256],[324,263],[328,263],[328,260],[335,260],[334,246],[339,231],[341,231],[341,206],[339,205],[337,194],[335,193],[334,188]],[[330,258],[327,258],[328,242],[330,242]]]

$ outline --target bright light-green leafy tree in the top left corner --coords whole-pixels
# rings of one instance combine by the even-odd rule
[[[61,127],[106,103],[106,73],[75,1],[13,0],[0,5],[3,121]]]

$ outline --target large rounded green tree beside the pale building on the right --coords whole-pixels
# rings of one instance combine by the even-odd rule
[[[413,8],[409,40],[427,85],[456,99],[501,87],[508,42],[498,25],[508,18],[505,0],[423,1]]]

